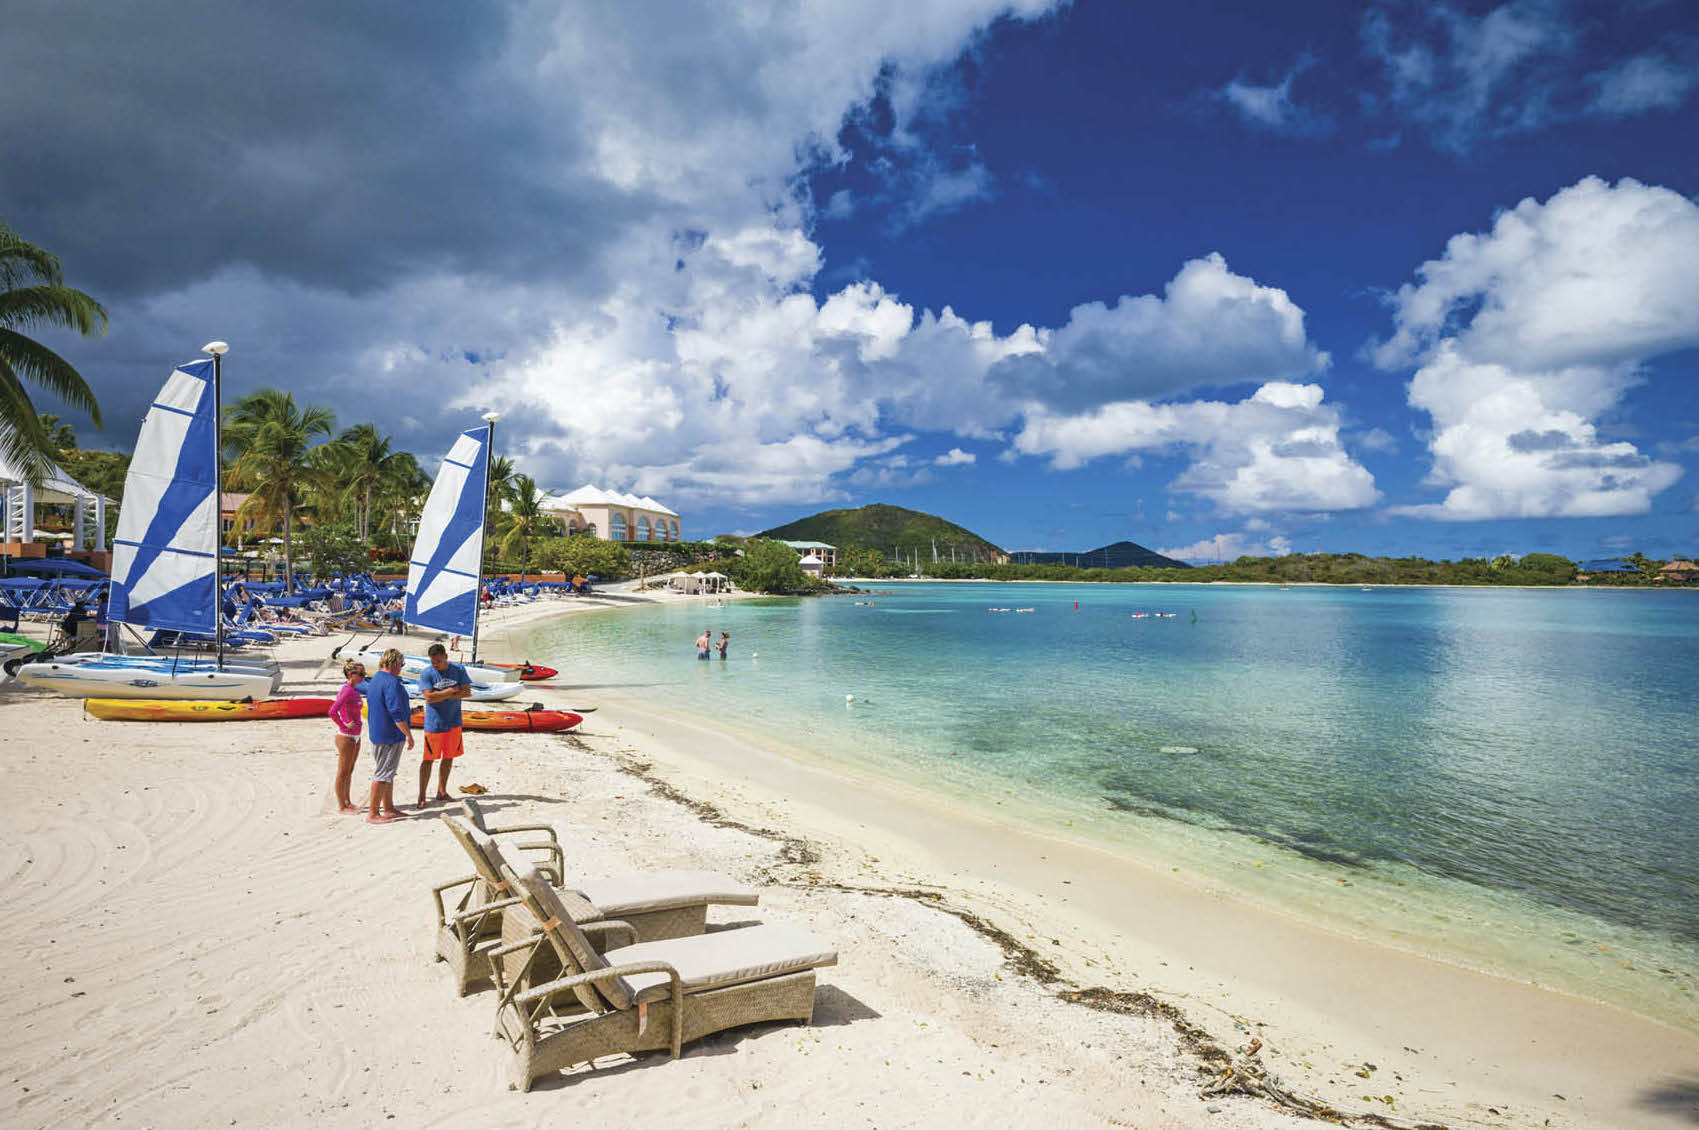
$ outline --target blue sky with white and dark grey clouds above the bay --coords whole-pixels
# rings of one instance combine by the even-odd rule
[[[224,336],[698,535],[1699,551],[1692,5],[793,8],[41,5],[0,218],[109,301],[119,447]],[[219,61],[110,65],[173,24]]]

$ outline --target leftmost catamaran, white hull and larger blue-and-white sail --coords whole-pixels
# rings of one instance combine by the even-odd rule
[[[214,658],[105,651],[29,663],[17,680],[100,698],[265,698],[282,671],[272,659],[226,659],[219,602],[219,379],[229,347],[178,365],[148,408],[124,476],[112,539],[107,619],[211,636]]]

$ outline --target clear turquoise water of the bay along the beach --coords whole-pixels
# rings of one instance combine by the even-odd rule
[[[894,588],[566,617],[532,658],[1689,1020],[1699,595]],[[697,659],[703,627],[729,661]]]

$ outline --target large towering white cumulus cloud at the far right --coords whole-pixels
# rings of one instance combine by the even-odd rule
[[[1599,435],[1643,365],[1699,345],[1699,206],[1589,177],[1458,234],[1393,296],[1383,367],[1434,420],[1434,518],[1643,513],[1682,469]]]

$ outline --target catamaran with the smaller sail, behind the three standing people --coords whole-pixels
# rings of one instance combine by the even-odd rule
[[[404,615],[409,625],[471,636],[472,661],[464,664],[472,680],[471,700],[500,702],[518,695],[525,686],[518,681],[518,671],[477,663],[479,568],[484,559],[484,506],[496,416],[491,413],[484,420],[488,427],[462,432],[449,449],[430,498],[425,500],[408,562]],[[379,656],[381,647],[367,647],[355,659],[375,671]],[[411,681],[428,666],[430,659],[425,656],[406,656],[401,673]]]

